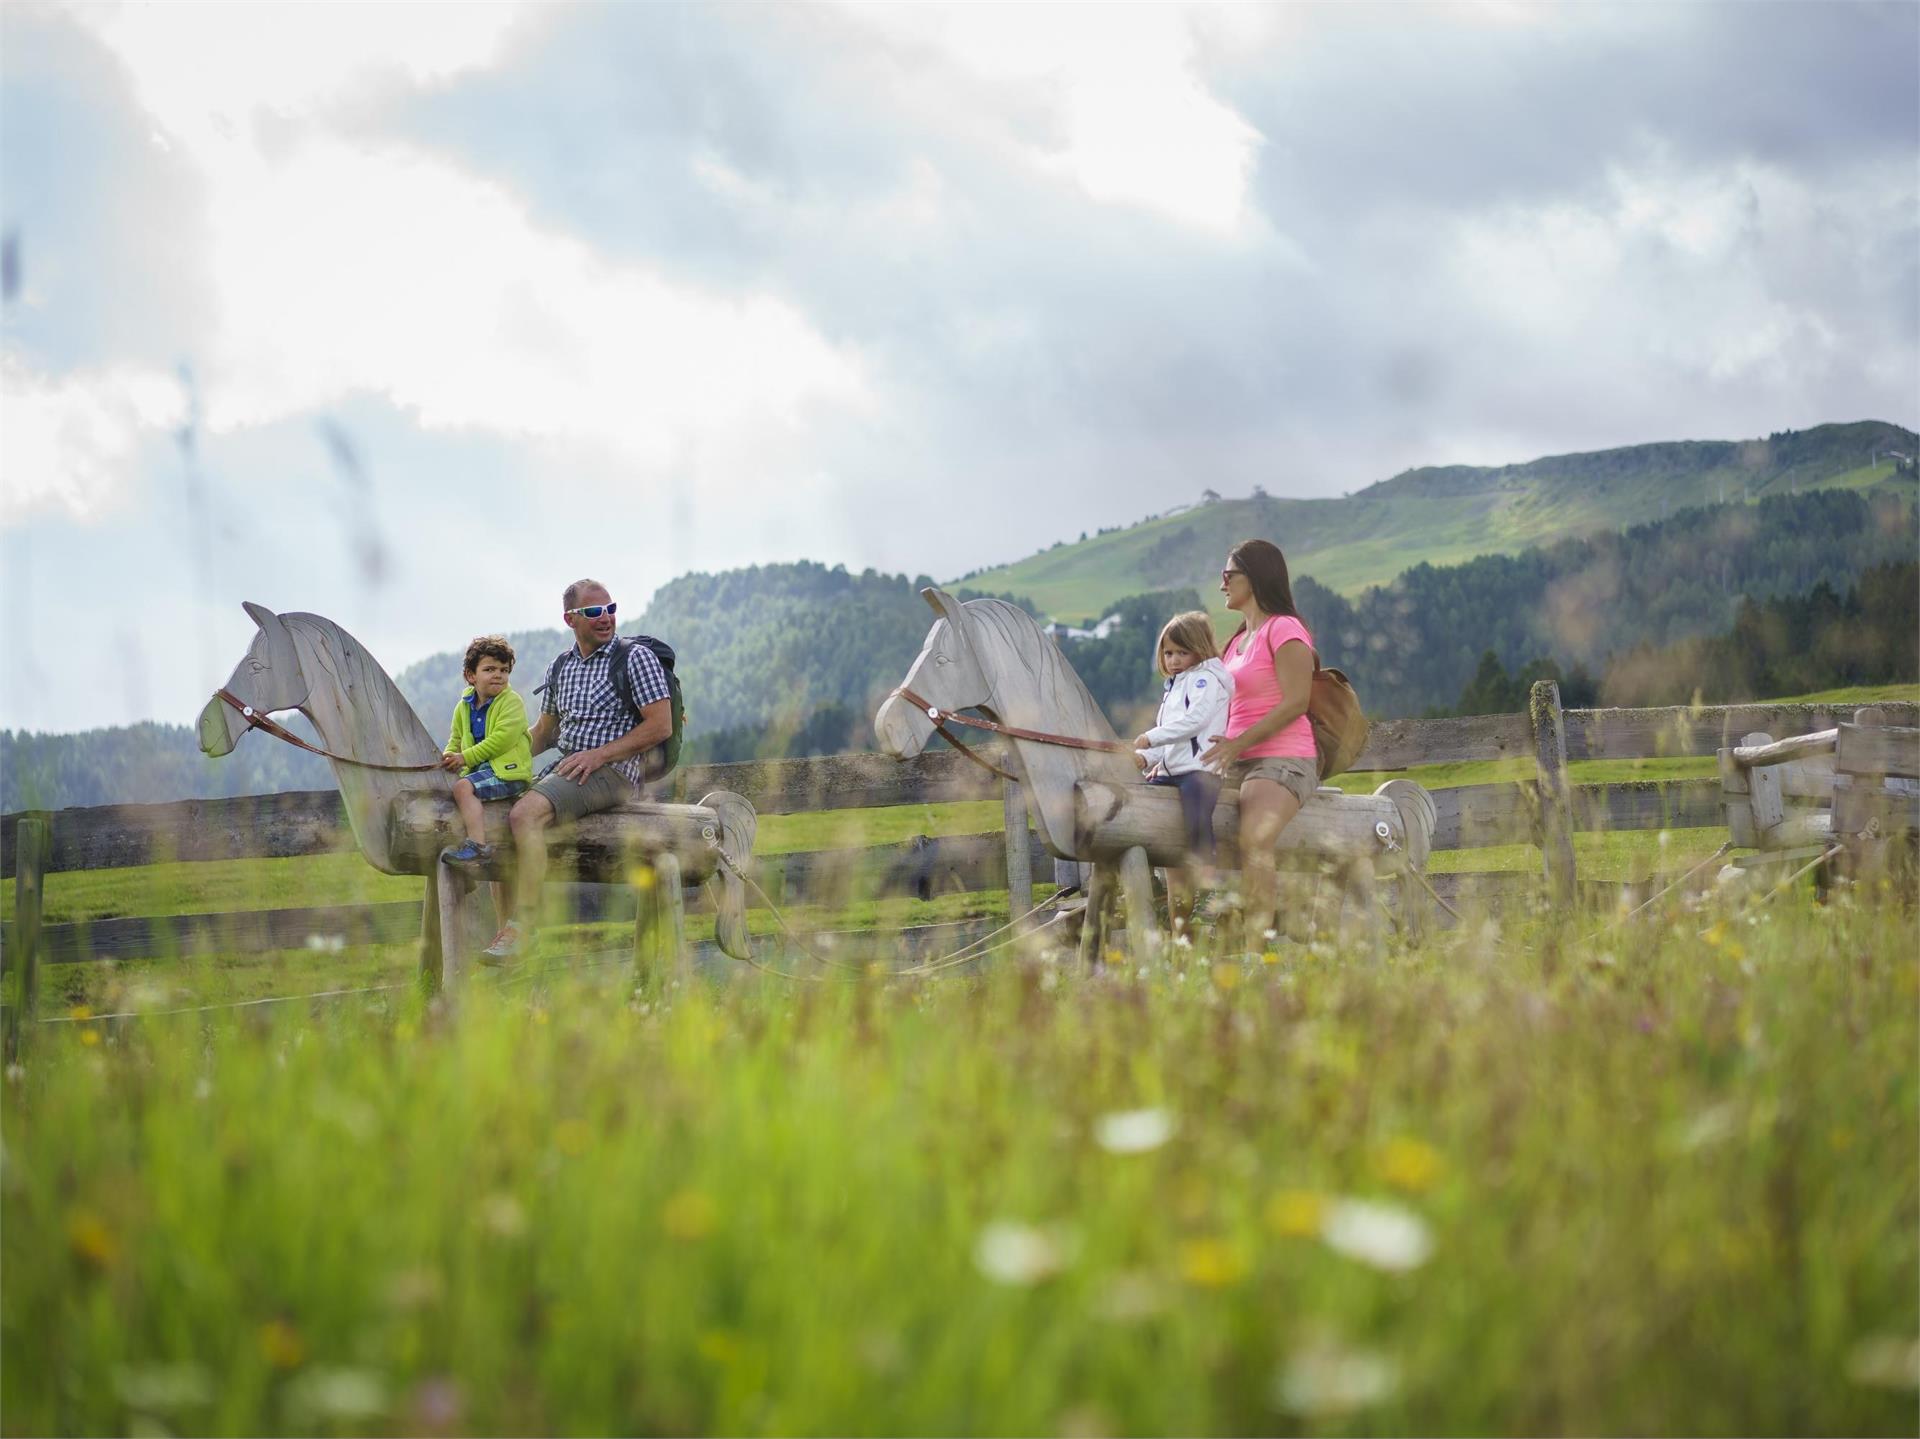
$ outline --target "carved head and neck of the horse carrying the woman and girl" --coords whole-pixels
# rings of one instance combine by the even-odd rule
[[[929,705],[979,709],[991,719],[1023,730],[1068,734],[1079,740],[1112,740],[1100,705],[1079,674],[1033,617],[1004,599],[960,603],[943,590],[920,598],[939,617],[902,690]],[[920,705],[893,694],[874,717],[879,747],[895,759],[918,755],[933,738],[933,720]],[[1073,786],[1085,778],[1131,784],[1133,761],[1089,749],[1069,749],[1035,740],[1012,742],[1014,772],[1025,780],[1027,811],[1048,849],[1064,859],[1073,851]]]

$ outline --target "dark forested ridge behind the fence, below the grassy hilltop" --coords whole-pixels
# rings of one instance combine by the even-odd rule
[[[1519,555],[1417,565],[1356,599],[1309,576],[1294,594],[1325,663],[1346,669],[1382,719],[1471,707],[1475,694],[1500,703],[1532,674],[1588,686],[1569,686],[1574,703],[1676,703],[1695,692],[1745,699],[1914,678],[1916,546],[1914,505],[1822,490],[1688,509]],[[1196,576],[1206,594],[1210,574]],[[680,651],[687,763],[862,749],[876,707],[933,622],[918,594],[927,584],[808,561],[685,574],[622,628]],[[1112,634],[1066,642],[1121,734],[1156,703],[1160,624],[1200,598],[1198,588],[1133,596],[1110,611],[1121,621]],[[515,686],[532,697],[568,636],[530,630],[511,640],[520,655]],[[461,690],[459,653],[396,678],[438,740]],[[294,726],[305,728],[298,717]],[[0,732],[8,811],[330,784],[324,761],[261,736],[209,761],[184,724]]]

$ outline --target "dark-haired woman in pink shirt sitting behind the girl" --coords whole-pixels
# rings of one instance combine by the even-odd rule
[[[1219,573],[1227,609],[1240,628],[1221,663],[1233,674],[1227,734],[1202,761],[1240,786],[1240,888],[1248,943],[1273,932],[1273,847],[1281,830],[1319,788],[1319,759],[1308,697],[1313,692],[1313,636],[1294,609],[1286,555],[1265,540],[1246,540]]]

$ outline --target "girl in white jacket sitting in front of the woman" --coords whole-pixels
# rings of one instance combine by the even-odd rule
[[[1192,882],[1213,886],[1213,805],[1221,778],[1200,755],[1227,732],[1227,705],[1233,676],[1219,663],[1213,624],[1204,611],[1175,615],[1154,644],[1167,690],[1160,699],[1160,719],[1133,742],[1135,763],[1148,784],[1171,784],[1181,792],[1187,822],[1187,855],[1194,874],[1167,870],[1167,901],[1173,930],[1181,934],[1192,920]]]

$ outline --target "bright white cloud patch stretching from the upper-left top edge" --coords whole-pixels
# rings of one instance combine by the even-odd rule
[[[326,106],[488,63],[513,8],[131,6],[81,12],[207,196],[215,321],[196,355],[211,434],[372,394],[424,428],[561,440],[730,471],[822,407],[872,403],[858,355],[766,292],[712,294],[536,225],[503,186],[397,144],[336,138]],[[252,123],[273,111],[290,125]],[[63,494],[98,513],[125,405],[42,421]],[[42,405],[44,409],[44,405]],[[73,453],[67,448],[73,446]],[[83,480],[84,476],[84,480]],[[77,503],[77,501],[75,501]],[[10,505],[17,511],[17,505]]]

